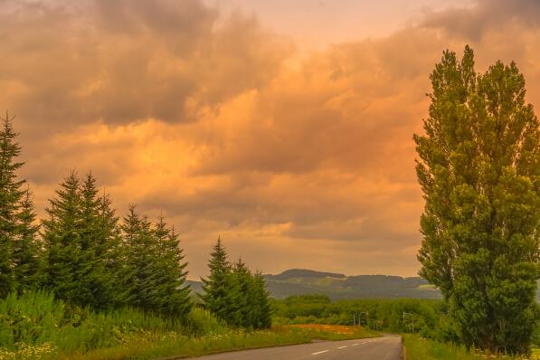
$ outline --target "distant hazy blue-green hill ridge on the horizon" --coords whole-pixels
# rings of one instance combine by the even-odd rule
[[[322,294],[329,298],[441,298],[441,291],[420,277],[402,278],[389,275],[346,276],[333,272],[291,269],[277,275],[264,275],[274,298],[290,295]],[[195,292],[200,281],[189,281]],[[540,285],[540,284],[539,284]],[[540,291],[536,293],[540,301]]]

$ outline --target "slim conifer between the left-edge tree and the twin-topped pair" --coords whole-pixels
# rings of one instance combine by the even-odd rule
[[[18,214],[18,240],[14,243],[14,276],[17,290],[38,289],[41,285],[42,244],[30,189],[26,189]]]

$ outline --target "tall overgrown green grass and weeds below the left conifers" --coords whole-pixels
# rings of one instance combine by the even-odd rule
[[[24,354],[39,353],[39,349],[69,355],[120,346],[150,334],[197,334],[208,327],[222,327],[202,310],[194,310],[191,317],[190,325],[182,327],[172,319],[133,308],[96,313],[89,308],[67,306],[43,291],[19,297],[11,294],[0,300],[0,359],[26,358]]]

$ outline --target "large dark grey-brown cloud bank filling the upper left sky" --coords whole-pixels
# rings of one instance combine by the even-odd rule
[[[292,50],[254,18],[217,24],[191,0],[5,2],[0,18],[4,106],[36,131],[195,121],[269,81]]]

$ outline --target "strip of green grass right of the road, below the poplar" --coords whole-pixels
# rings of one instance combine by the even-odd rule
[[[452,346],[433,340],[424,339],[418,335],[403,335],[403,345],[407,360],[478,360],[508,359],[507,356],[494,356],[484,353],[469,353],[463,346]]]

